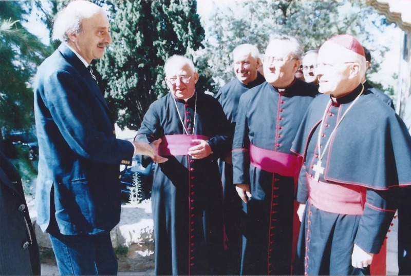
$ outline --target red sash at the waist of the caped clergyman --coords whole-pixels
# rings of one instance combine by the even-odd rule
[[[317,182],[307,175],[309,201],[320,210],[360,215],[363,213],[367,189],[358,185]]]

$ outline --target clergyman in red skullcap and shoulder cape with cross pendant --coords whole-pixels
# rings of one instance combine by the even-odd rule
[[[338,35],[320,48],[324,95],[308,108],[292,147],[305,160],[296,274],[369,274],[399,186],[411,184],[411,139],[394,110],[364,88],[364,71],[364,51],[354,37]]]

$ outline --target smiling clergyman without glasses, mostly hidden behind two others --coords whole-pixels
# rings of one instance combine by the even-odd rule
[[[238,45],[233,50],[233,64],[236,78],[218,90],[216,98],[221,104],[227,119],[231,123],[231,133],[237,116],[238,102],[240,96],[257,85],[265,82],[265,78],[258,72],[261,61],[256,46],[251,44]],[[238,275],[241,265],[241,218],[242,204],[235,186],[233,185],[233,165],[231,152],[226,158],[218,160],[221,173],[223,189],[223,215],[227,235],[227,250],[225,251],[225,262],[227,273]]]

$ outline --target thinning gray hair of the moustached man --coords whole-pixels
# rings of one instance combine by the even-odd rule
[[[88,1],[72,1],[54,17],[53,40],[67,42],[67,33],[80,33],[84,18],[105,12],[103,8]]]

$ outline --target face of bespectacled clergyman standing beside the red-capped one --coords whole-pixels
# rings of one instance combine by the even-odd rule
[[[264,77],[274,87],[287,87],[293,82],[300,64],[300,60],[292,56],[289,42],[271,43],[264,56]]]

